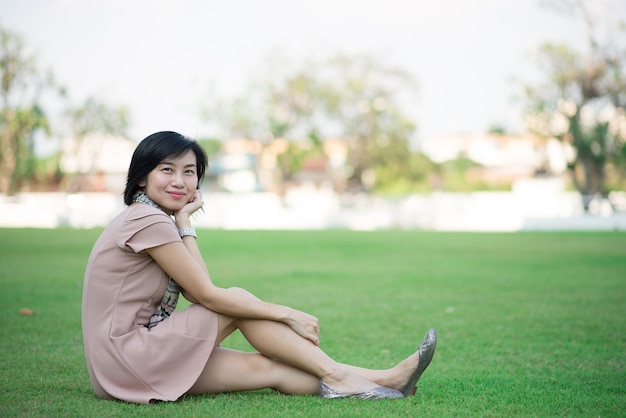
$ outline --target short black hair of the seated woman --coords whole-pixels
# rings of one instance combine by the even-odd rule
[[[137,145],[128,167],[124,203],[126,205],[133,203],[135,194],[141,189],[139,183],[145,180],[148,174],[163,160],[177,158],[188,150],[192,150],[196,154],[199,188],[208,165],[208,158],[204,149],[196,141],[172,131],[156,132],[145,137]]]

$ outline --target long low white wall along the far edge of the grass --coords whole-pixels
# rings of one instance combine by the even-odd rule
[[[338,197],[301,188],[284,201],[270,193],[204,194],[204,213],[195,225],[223,229],[440,231],[626,230],[626,214],[599,201],[592,214],[577,193],[550,183],[526,184],[512,192],[432,193],[397,199]],[[0,195],[0,227],[91,228],[104,226],[123,210],[122,196],[109,193],[24,193]]]

